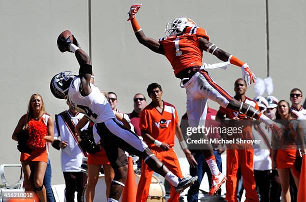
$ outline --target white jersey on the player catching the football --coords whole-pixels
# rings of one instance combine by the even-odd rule
[[[107,98],[100,92],[99,88],[89,83],[91,93],[83,97],[80,94],[80,78],[75,76],[69,86],[68,97],[71,105],[76,110],[84,112],[86,117],[94,123],[104,122],[115,118]]]

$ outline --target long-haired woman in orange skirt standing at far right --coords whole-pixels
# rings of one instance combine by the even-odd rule
[[[296,149],[296,131],[289,103],[280,100],[277,105],[276,119],[285,125],[282,136],[272,136],[272,167],[277,168],[281,184],[282,201],[290,201],[290,178],[291,172],[295,185],[298,188],[299,172],[294,167],[294,161],[297,154]]]

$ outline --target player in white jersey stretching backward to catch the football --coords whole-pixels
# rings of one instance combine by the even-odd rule
[[[58,73],[51,79],[50,89],[57,98],[68,97],[77,110],[85,112],[86,117],[94,122],[93,132],[100,136],[101,144],[115,173],[108,201],[118,201],[126,180],[127,157],[122,149],[141,157],[152,170],[168,180],[178,193],[197,180],[197,176],[179,178],[174,175],[152,154],[138,135],[117,121],[106,97],[90,83],[92,76],[90,57],[69,38],[70,35],[67,38],[59,35],[57,45],[61,52],[75,53],[80,65],[78,75],[73,75],[71,71]]]

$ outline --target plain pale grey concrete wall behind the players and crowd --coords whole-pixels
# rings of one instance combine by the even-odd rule
[[[0,163],[19,163],[16,142],[11,133],[26,112],[29,96],[39,92],[46,110],[53,115],[66,107],[63,100],[49,91],[49,80],[61,70],[78,70],[73,54],[60,53],[56,47],[58,34],[65,29],[74,33],[81,47],[91,56],[95,84],[118,95],[118,108],[132,110],[132,96],[146,95],[146,86],[158,82],[163,87],[163,99],[174,104],[179,116],[185,111],[185,92],[173,76],[169,62],[139,44],[127,22],[132,0],[91,0],[88,14],[86,0],[10,0],[0,1]],[[175,17],[188,16],[205,28],[210,41],[246,61],[259,77],[267,74],[266,23],[264,0],[154,0],[143,1],[137,19],[147,36],[163,36],[165,24]],[[269,0],[270,76],[274,95],[288,100],[289,90],[299,87],[306,91],[303,74],[303,51],[306,40],[305,2]],[[91,32],[88,31],[88,15]],[[204,61],[218,62],[204,52]],[[209,72],[219,85],[233,93],[233,82],[241,77],[236,66]],[[253,97],[253,87],[247,95]],[[146,95],[147,96],[147,95]],[[149,98],[147,97],[149,100]],[[209,102],[213,108],[218,105]],[[181,155],[177,147],[178,154]],[[59,152],[50,149],[52,184],[62,183]]]

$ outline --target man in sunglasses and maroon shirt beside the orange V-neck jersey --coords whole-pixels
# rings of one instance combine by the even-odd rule
[[[130,123],[134,126],[134,131],[138,136],[141,136],[139,128],[139,119],[142,109],[146,106],[145,96],[141,93],[137,93],[133,97],[134,109],[131,113],[128,113]]]

